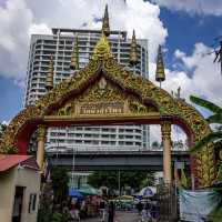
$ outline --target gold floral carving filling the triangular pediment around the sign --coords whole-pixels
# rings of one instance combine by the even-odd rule
[[[123,92],[121,89],[118,89],[115,84],[107,81],[102,78],[102,81],[105,81],[105,88],[101,87],[101,80],[98,80],[92,87],[87,89],[82,94],[77,98],[71,98],[65,102],[62,108],[59,108],[58,111],[53,112],[53,115],[77,115],[80,114],[80,107],[81,105],[95,105],[101,107],[105,105],[109,109],[100,110],[101,112],[91,112],[91,113],[105,113],[112,114],[110,110],[110,105],[117,105],[118,103],[122,102],[122,111],[120,113],[150,113],[155,112],[158,113],[158,109],[152,104],[143,104],[139,101],[139,99],[130,93]],[[114,111],[117,111],[114,109]],[[114,113],[114,112],[113,112]]]

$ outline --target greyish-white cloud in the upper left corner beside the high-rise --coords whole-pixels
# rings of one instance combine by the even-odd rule
[[[20,0],[0,8],[0,73],[23,79],[27,64],[28,29],[31,11]],[[24,49],[24,50],[23,50]]]

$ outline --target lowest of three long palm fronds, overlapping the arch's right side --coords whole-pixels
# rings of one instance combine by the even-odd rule
[[[193,148],[191,148],[190,152],[195,153],[201,151],[208,143],[214,142],[216,140],[222,140],[222,132],[211,132],[206,137],[204,137],[201,141],[199,141]]]

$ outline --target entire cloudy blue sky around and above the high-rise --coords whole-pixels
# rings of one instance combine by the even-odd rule
[[[204,4],[206,1],[203,1],[201,13],[195,11],[195,6],[171,8],[173,1],[175,6],[176,2],[180,4],[176,0],[164,3],[161,3],[161,0],[155,1],[160,2],[160,6],[144,4],[142,0],[129,0],[125,7],[121,0],[118,1],[121,2],[120,6],[113,3],[117,0],[108,0],[111,24],[114,28],[120,22],[129,32],[135,28],[139,37],[150,38],[151,80],[155,65],[153,60],[155,49],[161,43],[167,49],[164,61],[168,80],[163,84],[164,89],[176,90],[181,85],[184,98],[195,93],[221,104],[222,78],[219,67],[212,63],[213,56],[202,58],[199,52],[212,50],[209,47],[214,42],[214,38],[222,34],[222,6],[218,6],[219,9],[215,11],[218,16],[214,16],[212,10],[215,9],[208,7],[209,2]],[[69,0],[61,7],[61,1],[53,0],[53,11],[49,11],[52,8],[46,6],[43,0],[0,2],[0,122],[2,122],[12,119],[22,108],[30,33],[49,33],[50,28],[61,26],[81,28],[82,23],[87,23],[89,28],[100,28],[101,23],[93,23],[93,20],[94,14],[102,14],[104,1],[82,0],[84,3],[79,6],[78,1]],[[72,10],[77,7],[84,8],[82,11],[77,10],[81,11],[81,14],[73,14]],[[129,23],[132,26],[122,18],[124,13],[128,14]],[[137,22],[142,22],[141,27]],[[148,30],[145,26],[154,28]],[[198,42],[200,43],[196,44]]]

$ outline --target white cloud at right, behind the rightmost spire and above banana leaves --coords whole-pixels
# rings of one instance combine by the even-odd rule
[[[163,89],[171,92],[181,87],[182,97],[186,101],[191,94],[195,94],[222,105],[220,65],[213,63],[214,54],[202,56],[203,52],[212,50],[203,43],[196,43],[192,54],[175,50],[175,64],[181,67],[181,71],[165,69],[167,79],[162,83]],[[150,73],[155,73],[155,63],[150,64]],[[154,81],[154,74],[151,74],[150,79]]]

